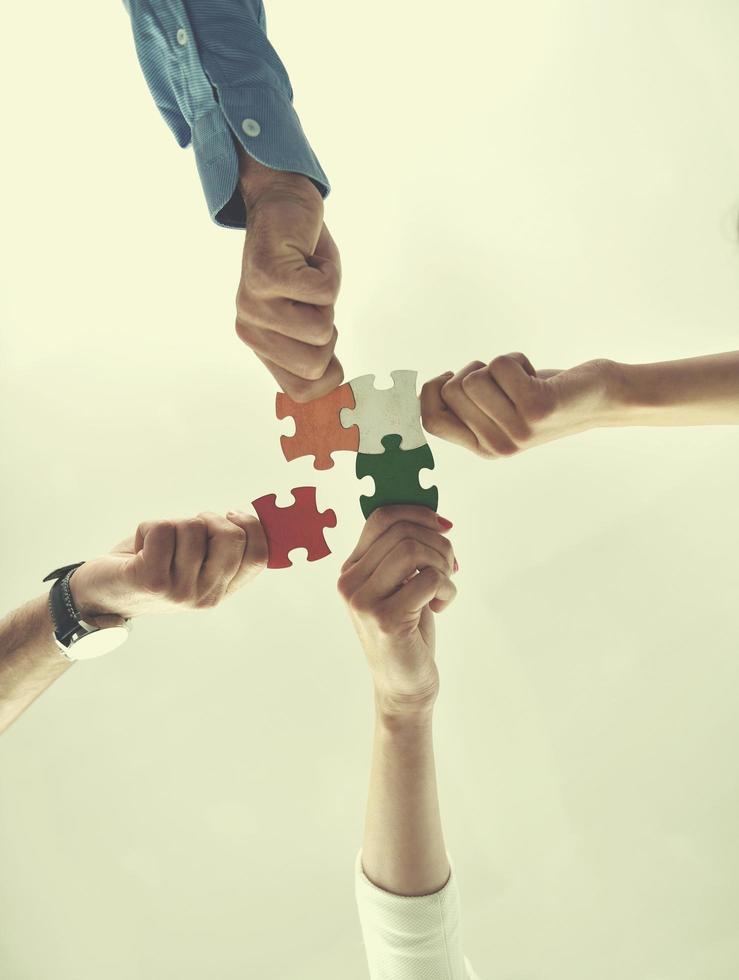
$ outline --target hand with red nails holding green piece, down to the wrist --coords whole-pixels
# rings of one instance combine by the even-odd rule
[[[433,613],[457,594],[459,567],[446,531],[428,507],[380,507],[341,566],[338,589],[349,607],[384,715],[429,712],[439,691]]]

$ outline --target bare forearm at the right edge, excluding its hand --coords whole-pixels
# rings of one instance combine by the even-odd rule
[[[655,364],[612,364],[603,424],[739,424],[739,351]]]

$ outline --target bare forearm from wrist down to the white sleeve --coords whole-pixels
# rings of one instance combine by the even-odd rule
[[[430,712],[398,720],[377,711],[362,867],[397,895],[430,895],[449,880]]]

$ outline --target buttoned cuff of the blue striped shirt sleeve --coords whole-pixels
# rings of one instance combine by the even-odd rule
[[[234,139],[259,163],[309,177],[321,197],[331,191],[290,100],[277,89],[216,86],[218,104],[192,125],[198,173],[212,220],[222,228],[245,228]],[[251,135],[253,134],[253,135]]]

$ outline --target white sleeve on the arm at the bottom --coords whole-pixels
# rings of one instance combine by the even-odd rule
[[[378,888],[365,875],[360,850],[355,861],[355,895],[372,977],[391,976],[401,964],[411,966],[413,976],[434,980],[462,980],[469,975],[461,947],[460,899],[453,869],[444,887],[432,895],[395,895]]]

